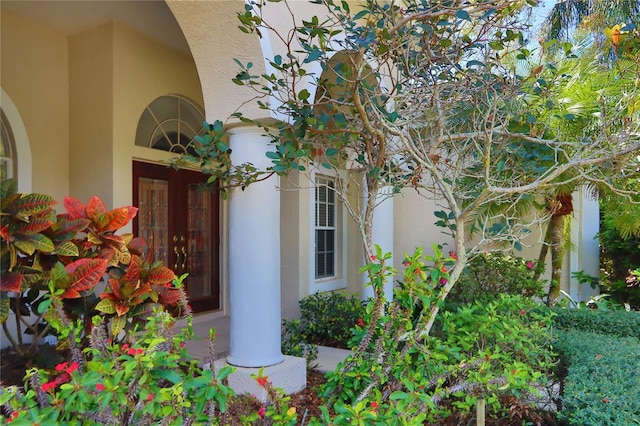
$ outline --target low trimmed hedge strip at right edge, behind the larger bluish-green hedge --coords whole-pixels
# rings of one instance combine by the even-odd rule
[[[554,309],[558,330],[576,330],[616,337],[640,338],[640,313],[600,309]]]

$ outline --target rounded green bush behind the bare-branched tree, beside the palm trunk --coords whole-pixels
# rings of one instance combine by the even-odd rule
[[[498,294],[542,296],[543,283],[534,280],[534,274],[532,261],[501,252],[482,253],[469,261],[447,303],[488,302]]]

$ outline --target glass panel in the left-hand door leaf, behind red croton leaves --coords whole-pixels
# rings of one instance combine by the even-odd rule
[[[160,179],[138,180],[138,235],[147,241],[154,260],[169,264],[169,182]]]

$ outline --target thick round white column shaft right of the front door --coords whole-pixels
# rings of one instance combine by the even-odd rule
[[[259,128],[229,131],[234,164],[269,166]],[[280,350],[280,193],[277,178],[229,194],[230,353],[239,367],[283,361]]]

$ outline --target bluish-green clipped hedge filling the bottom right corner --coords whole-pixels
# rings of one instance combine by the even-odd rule
[[[561,421],[569,425],[640,424],[640,341],[585,331],[558,331],[567,368]]]

